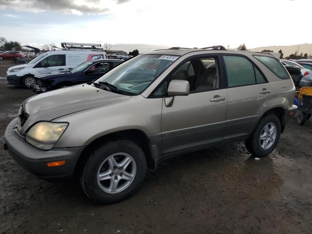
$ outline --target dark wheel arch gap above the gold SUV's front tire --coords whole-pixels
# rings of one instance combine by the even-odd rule
[[[156,155],[152,149],[152,144],[147,137],[147,135],[138,129],[128,129],[113,132],[101,137],[94,139],[90,144],[88,144],[85,149],[82,151],[81,155],[79,156],[78,162],[76,164],[75,174],[79,173],[82,166],[85,164],[87,159],[89,158],[91,152],[96,150],[98,147],[102,146],[103,144],[116,141],[116,140],[130,140],[136,143],[144,152],[146,157],[147,167],[149,169],[155,170],[156,168]]]

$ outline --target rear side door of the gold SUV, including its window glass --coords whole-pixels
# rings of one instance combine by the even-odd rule
[[[225,139],[249,136],[271,106],[271,85],[251,59],[241,55],[223,55],[227,81],[228,110]]]

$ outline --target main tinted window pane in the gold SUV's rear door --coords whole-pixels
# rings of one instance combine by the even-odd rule
[[[239,56],[223,56],[228,86],[244,86],[255,84],[254,65],[246,58]]]

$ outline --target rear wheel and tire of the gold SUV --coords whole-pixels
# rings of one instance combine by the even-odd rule
[[[265,127],[267,128],[267,134]],[[275,127],[273,130],[272,127]],[[272,134],[271,133],[272,130]],[[264,157],[273,152],[281,134],[281,123],[275,115],[267,115],[260,119],[252,135],[245,140],[246,149],[257,157]],[[260,140],[261,138],[264,138]]]

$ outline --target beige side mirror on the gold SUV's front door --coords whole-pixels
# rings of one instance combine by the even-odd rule
[[[171,107],[174,104],[175,96],[188,96],[190,94],[190,83],[187,80],[174,79],[169,83],[168,95],[165,98],[165,105]]]

